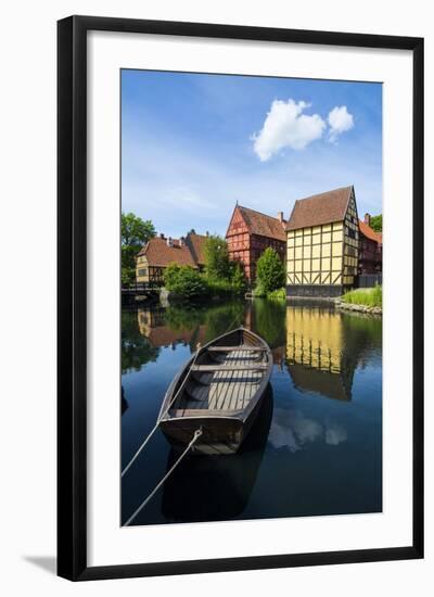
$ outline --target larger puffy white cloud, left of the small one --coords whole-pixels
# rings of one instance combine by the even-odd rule
[[[252,137],[253,148],[261,162],[284,148],[302,150],[322,136],[326,123],[318,114],[303,114],[308,106],[304,101],[292,99],[272,102],[263,128]]]

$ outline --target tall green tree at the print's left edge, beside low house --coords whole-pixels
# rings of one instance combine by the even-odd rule
[[[135,214],[122,214],[122,281],[133,282],[136,279],[136,257],[140,249],[155,237],[155,228],[150,219],[143,220]]]

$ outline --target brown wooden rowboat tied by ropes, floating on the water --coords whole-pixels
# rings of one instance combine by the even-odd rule
[[[272,369],[268,344],[238,328],[205,344],[178,372],[158,425],[182,449],[200,429],[195,454],[233,454],[258,412]]]

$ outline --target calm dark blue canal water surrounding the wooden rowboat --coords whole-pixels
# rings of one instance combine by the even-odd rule
[[[239,325],[261,335],[275,359],[251,434],[237,455],[188,456],[131,524],[381,511],[381,319],[323,303],[125,307],[123,467],[196,343]],[[175,459],[158,430],[123,479],[122,522]]]

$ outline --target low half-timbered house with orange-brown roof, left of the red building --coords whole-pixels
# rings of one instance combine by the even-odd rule
[[[137,256],[137,282],[162,284],[164,270],[171,263],[203,269],[205,241],[205,236],[195,233],[181,239],[164,234],[150,239]]]

